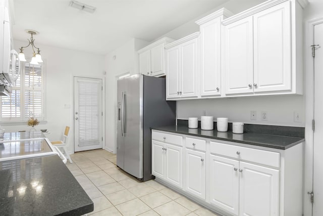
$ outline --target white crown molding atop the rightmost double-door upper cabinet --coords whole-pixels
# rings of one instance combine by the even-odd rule
[[[278,5],[278,4],[281,4],[283,2],[287,2],[287,1],[290,1],[290,0],[269,0],[267,2],[264,2],[264,3],[260,4],[260,5],[252,7],[250,9],[248,9],[248,10],[245,10],[245,11],[239,13],[239,14],[236,14],[236,15],[234,15],[232,17],[229,17],[229,18],[223,20],[222,24],[223,25],[228,25],[230,23],[236,22],[236,21],[241,20],[241,19],[243,19],[245,17],[251,16],[251,15],[256,14],[256,13],[258,13],[260,11],[263,11],[263,10],[265,10],[267,8],[271,8],[271,7],[275,6],[275,5]],[[307,1],[307,0],[302,0],[302,1]]]

